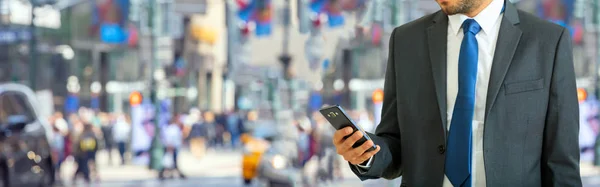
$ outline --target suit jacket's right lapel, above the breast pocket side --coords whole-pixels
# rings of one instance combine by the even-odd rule
[[[517,9],[510,3],[506,3],[502,24],[500,24],[500,32],[498,33],[498,42],[496,43],[496,51],[492,62],[492,71],[488,86],[488,94],[485,105],[485,119],[494,106],[498,92],[504,82],[504,77],[508,72],[510,63],[519,45],[522,32],[516,26],[519,24],[519,15]]]

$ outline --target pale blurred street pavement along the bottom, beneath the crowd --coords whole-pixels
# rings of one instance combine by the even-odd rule
[[[116,155],[116,153],[114,153]],[[188,175],[188,179],[167,179],[159,181],[156,172],[152,172],[143,166],[119,166],[117,162],[108,165],[106,152],[98,153],[99,173],[101,182],[92,183],[93,187],[240,187],[243,185],[241,177],[241,154],[234,151],[209,152],[202,160],[196,160],[189,152],[182,152],[180,164],[182,172]],[[73,184],[70,180],[75,166],[72,162],[63,165],[62,177],[65,187],[86,186],[83,181]],[[398,181],[372,180],[360,182],[352,172],[344,167],[344,180],[322,186],[399,186]],[[396,183],[394,183],[396,182]],[[395,185],[392,185],[395,184]],[[58,185],[59,186],[59,185]],[[254,184],[252,186],[259,186]]]

